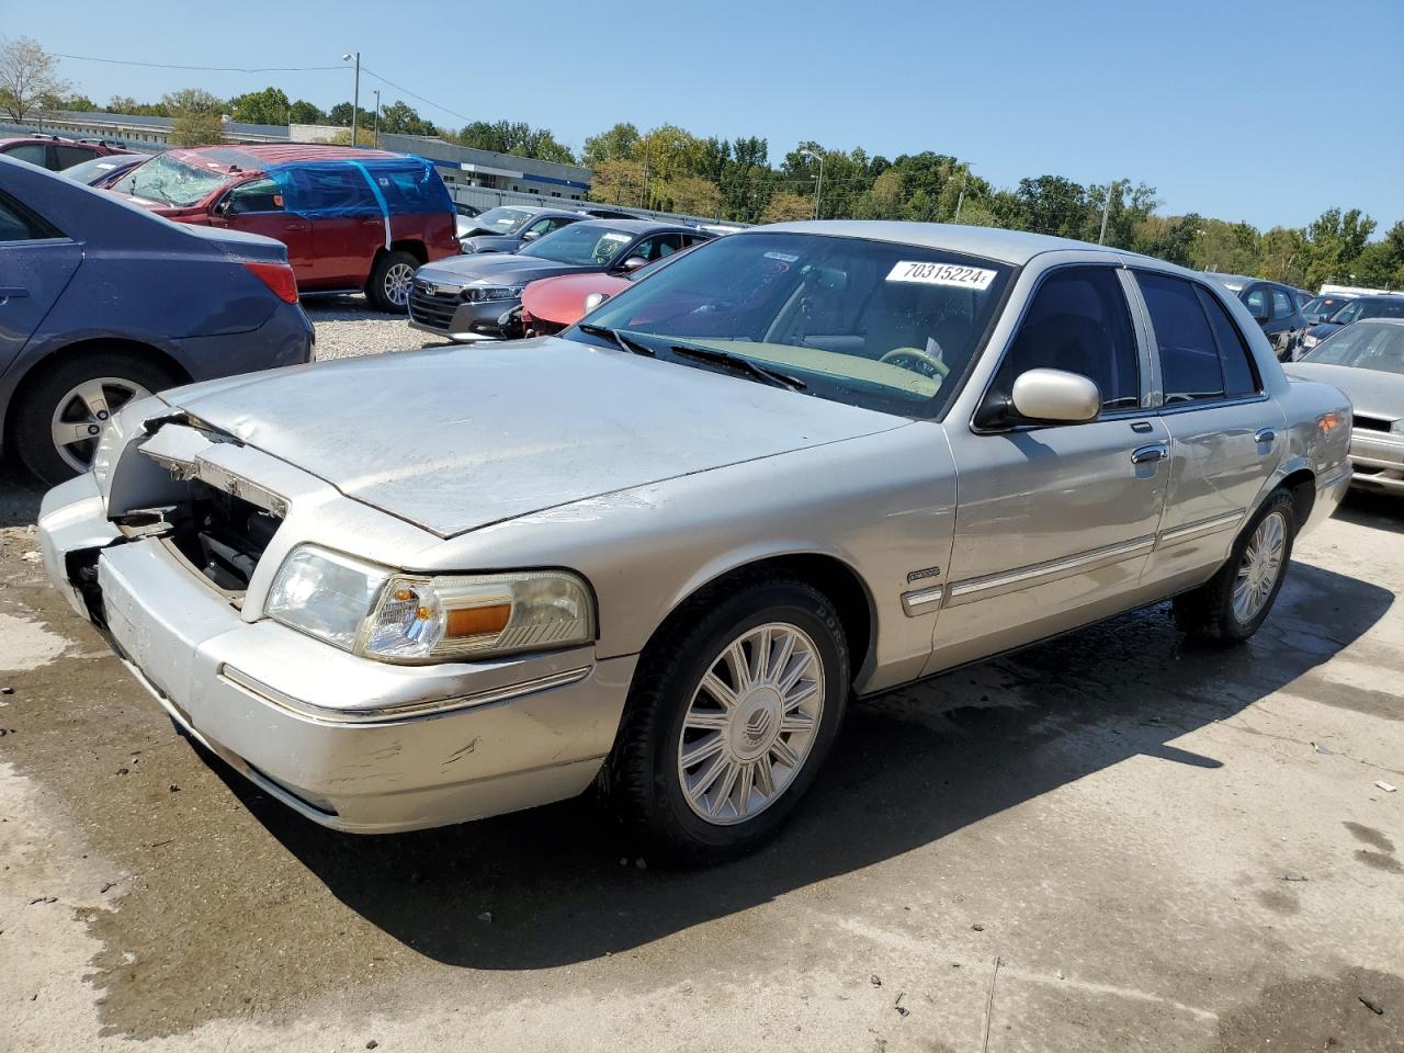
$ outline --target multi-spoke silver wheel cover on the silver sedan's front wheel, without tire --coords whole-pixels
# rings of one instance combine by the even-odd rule
[[[747,629],[708,667],[678,736],[678,782],[708,823],[744,823],[774,804],[813,751],[824,664],[802,629]]]

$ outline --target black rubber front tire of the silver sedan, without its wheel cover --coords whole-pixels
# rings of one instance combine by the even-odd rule
[[[727,646],[772,622],[800,629],[814,644],[824,675],[823,691],[816,692],[823,698],[817,727],[809,753],[771,803],[750,819],[717,826],[699,817],[684,793],[678,768],[684,719],[703,675]],[[619,734],[601,772],[605,802],[630,840],[664,862],[716,863],[751,851],[779,830],[814,781],[838,736],[849,691],[848,642],[833,601],[817,588],[785,577],[750,577],[705,590],[670,619],[640,657]],[[771,771],[769,753],[764,764]]]

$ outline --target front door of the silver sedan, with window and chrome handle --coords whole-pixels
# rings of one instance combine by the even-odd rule
[[[943,611],[960,609],[942,614],[928,673],[1115,614],[1140,585],[1170,435],[1148,410],[1148,351],[1123,281],[1111,265],[1052,271],[983,402],[1005,400],[1029,369],[1063,369],[1097,383],[1098,420],[946,423],[959,497]]]

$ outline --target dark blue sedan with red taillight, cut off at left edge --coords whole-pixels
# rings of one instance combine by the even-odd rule
[[[44,482],[86,472],[124,403],[312,341],[282,243],[0,157],[0,437]]]

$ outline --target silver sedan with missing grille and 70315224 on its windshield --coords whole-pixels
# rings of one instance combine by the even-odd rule
[[[39,535],[171,717],[313,821],[594,785],[715,861],[792,813],[855,696],[1171,597],[1248,639],[1348,444],[1345,396],[1203,275],[795,223],[562,337],[133,403]]]

